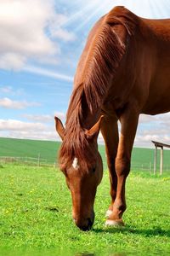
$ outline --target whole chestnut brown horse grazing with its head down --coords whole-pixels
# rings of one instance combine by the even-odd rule
[[[111,180],[106,224],[122,225],[125,183],[139,114],[170,111],[170,20],[146,20],[112,9],[89,33],[78,63],[59,165],[71,189],[73,218],[81,230],[94,223],[94,197],[102,178],[99,130]],[[121,123],[119,136],[117,121]]]

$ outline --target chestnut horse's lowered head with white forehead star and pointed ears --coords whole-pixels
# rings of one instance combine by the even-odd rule
[[[56,131],[63,141],[59,154],[59,165],[65,174],[67,186],[71,190],[72,217],[81,230],[90,230],[94,224],[94,198],[103,174],[102,160],[97,146],[101,120],[102,117],[90,130],[82,131],[81,136],[85,145],[82,145],[81,149],[77,148],[72,154],[71,150],[65,148],[68,143],[65,128],[55,117]],[[79,152],[81,150],[82,152]],[[69,153],[71,157],[69,157]]]

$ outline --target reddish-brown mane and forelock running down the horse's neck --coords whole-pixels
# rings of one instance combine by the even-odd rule
[[[83,119],[87,109],[93,114],[101,107],[111,80],[126,52],[127,42],[122,41],[119,34],[114,31],[114,26],[122,25],[130,37],[134,33],[136,22],[137,16],[127,9],[116,7],[105,15],[100,23],[82,67],[81,81],[72,92],[60,159],[65,158],[67,162],[75,156],[84,162],[93,159],[93,152],[90,152],[84,134]]]

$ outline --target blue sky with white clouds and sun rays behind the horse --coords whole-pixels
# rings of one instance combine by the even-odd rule
[[[116,5],[170,18],[169,0],[0,0],[0,137],[59,140],[88,32]],[[141,115],[134,146],[170,143],[169,127],[169,113]]]

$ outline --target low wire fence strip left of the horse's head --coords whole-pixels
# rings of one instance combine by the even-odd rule
[[[24,164],[26,166],[56,166],[55,162],[50,162],[49,160],[42,159],[39,156],[37,158],[34,157],[11,157],[11,156],[0,156],[0,163],[16,163],[16,164]]]

